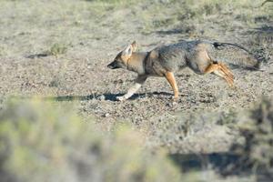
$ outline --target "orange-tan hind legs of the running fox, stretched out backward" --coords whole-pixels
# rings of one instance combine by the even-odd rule
[[[234,76],[229,68],[223,63],[214,63],[210,66],[207,66],[205,73],[214,73],[215,75],[224,78],[227,81],[228,86],[234,85]]]

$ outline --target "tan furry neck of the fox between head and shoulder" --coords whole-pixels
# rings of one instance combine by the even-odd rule
[[[136,72],[138,75],[145,74],[145,59],[147,52],[133,53],[127,60],[127,69]]]

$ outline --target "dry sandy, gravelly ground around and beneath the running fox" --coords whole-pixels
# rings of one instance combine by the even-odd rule
[[[1,3],[1,100],[40,96],[73,103],[80,115],[96,116],[102,129],[132,123],[147,136],[148,147],[163,146],[171,153],[188,154],[226,152],[239,139],[236,131],[217,124],[219,118],[251,107],[262,96],[272,96],[272,15],[254,15],[261,20],[252,25],[235,18],[236,13],[207,15],[204,22],[192,22],[193,30],[188,21],[184,27],[181,20],[145,32],[147,23],[137,13],[146,11],[149,3],[112,8],[86,1],[65,2]],[[227,26],[230,20],[233,24]],[[131,99],[116,101],[116,96],[133,85],[136,74],[110,70],[106,65],[126,44],[136,40],[138,50],[148,51],[157,45],[196,38],[245,45],[267,58],[264,71],[233,69],[236,88],[229,88],[217,76],[198,76],[185,69],[177,73],[180,97],[176,106],[172,105],[167,80],[160,77],[148,78]],[[66,45],[66,53],[44,56],[55,43]]]

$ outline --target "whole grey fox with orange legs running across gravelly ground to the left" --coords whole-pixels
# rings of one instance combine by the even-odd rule
[[[196,40],[158,46],[149,52],[136,52],[134,41],[118,53],[107,67],[125,68],[138,74],[136,84],[126,95],[116,97],[119,101],[133,96],[148,76],[165,76],[173,88],[176,100],[178,88],[174,73],[186,66],[200,75],[213,73],[224,78],[229,86],[233,86],[234,76],[222,62],[253,68],[259,66],[258,59],[240,45]]]

